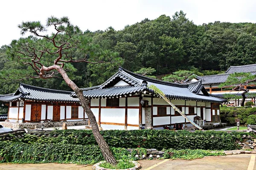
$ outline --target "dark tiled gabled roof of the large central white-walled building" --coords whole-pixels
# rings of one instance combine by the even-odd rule
[[[114,86],[118,81],[124,81],[129,85],[126,86]],[[113,83],[115,82],[115,83]],[[112,85],[112,86],[110,86]],[[114,74],[110,79],[100,86],[95,88],[83,89],[83,94],[85,97],[118,97],[127,94],[136,94],[139,92],[154,93],[152,89],[149,89],[147,85],[155,85],[170,99],[180,99],[180,100],[194,100],[201,102],[225,102],[225,99],[216,98],[209,96],[207,91],[205,91],[204,86],[201,81],[191,82],[187,84],[179,84],[172,82],[165,82],[157,79],[152,79],[149,77],[141,76],[140,74],[135,74],[131,71],[125,70],[124,68],[119,68],[119,71]],[[203,94],[199,94],[203,91]],[[72,93],[72,96],[76,94]]]

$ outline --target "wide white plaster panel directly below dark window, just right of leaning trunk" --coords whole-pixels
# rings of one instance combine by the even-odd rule
[[[128,113],[129,113],[129,110],[130,109],[128,109]],[[99,109],[98,109],[98,115],[99,115]],[[102,108],[100,119],[101,119],[101,122],[125,123],[125,109]]]

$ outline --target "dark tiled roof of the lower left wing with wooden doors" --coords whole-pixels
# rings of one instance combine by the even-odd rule
[[[11,102],[20,98],[37,101],[78,102],[77,98],[70,96],[71,93],[71,91],[40,88],[20,83],[20,87],[14,94],[2,95],[0,96],[0,101]]]

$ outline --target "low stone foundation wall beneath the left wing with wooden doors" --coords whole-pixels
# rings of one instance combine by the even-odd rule
[[[64,122],[44,122],[44,127],[61,127]],[[83,121],[70,121],[66,122],[67,126],[76,126],[76,125],[88,125],[88,120]],[[3,127],[10,127],[13,130],[17,129],[35,129],[35,126],[41,126],[41,122],[36,123],[15,123],[15,122],[0,122],[0,125]]]

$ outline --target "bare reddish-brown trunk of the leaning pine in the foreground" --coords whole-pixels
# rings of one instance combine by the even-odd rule
[[[104,159],[113,165],[116,164],[116,159],[113,156],[113,153],[111,152],[107,142],[103,138],[103,136],[99,133],[99,127],[96,122],[96,118],[93,115],[93,112],[90,110],[90,107],[88,105],[88,102],[86,101],[83,92],[81,89],[78,88],[78,86],[68,77],[66,71],[58,66],[53,65],[53,67],[61,74],[61,76],[64,78],[64,81],[67,83],[67,85],[73,89],[73,91],[76,93],[78,99],[81,102],[82,107],[84,108],[84,111],[86,112],[88,119],[90,120],[90,124],[92,127],[94,138],[96,139],[96,142],[98,143],[100,150],[102,151],[102,155]],[[45,70],[46,71],[46,70]]]

